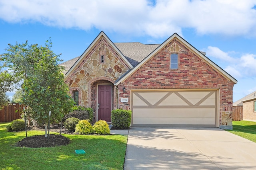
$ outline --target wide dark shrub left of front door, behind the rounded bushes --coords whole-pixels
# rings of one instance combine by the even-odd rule
[[[89,122],[92,121],[93,118],[93,109],[88,107],[82,107],[82,106],[75,106],[74,107],[74,111],[68,113],[63,119],[62,121],[65,122],[66,119],[70,118],[70,117],[76,117],[80,120],[86,120],[88,119]]]

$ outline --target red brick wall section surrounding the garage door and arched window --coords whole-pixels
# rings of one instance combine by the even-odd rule
[[[178,69],[170,69],[170,55],[178,54]],[[123,86],[126,93],[122,92]],[[196,56],[177,39],[173,39],[147,63],[118,85],[120,98],[130,98],[132,89],[219,89],[220,125],[227,125],[223,114],[232,113],[234,82],[227,80],[212,66]],[[130,101],[120,107],[130,106]],[[223,110],[229,107],[230,110]],[[230,115],[228,115],[230,117]]]

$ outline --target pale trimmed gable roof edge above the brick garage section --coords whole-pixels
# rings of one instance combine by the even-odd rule
[[[233,78],[230,74],[228,74],[225,70],[220,68],[217,64],[215,64],[213,61],[211,61],[208,57],[206,57],[202,52],[198,51],[195,47],[190,45],[186,40],[184,40],[180,35],[177,33],[174,33],[172,36],[170,36],[164,43],[162,43],[160,46],[158,46],[152,53],[150,53],[145,59],[143,59],[138,65],[136,65],[132,70],[128,72],[128,74],[125,74],[118,80],[116,80],[116,85],[124,82],[130,75],[132,75],[136,70],[138,70],[143,64],[145,64],[148,60],[150,60],[158,51],[160,51],[163,47],[165,47],[172,39],[178,39],[183,45],[185,45],[190,51],[195,53],[200,59],[202,59],[204,62],[209,64],[212,68],[214,68],[216,71],[218,71],[222,76],[224,76],[226,79],[234,82],[235,84],[237,83],[237,80]]]

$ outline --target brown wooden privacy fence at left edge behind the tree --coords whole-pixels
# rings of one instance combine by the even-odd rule
[[[0,122],[8,122],[15,119],[20,119],[23,107],[24,105],[19,103],[13,103],[9,104],[8,106],[4,106],[4,108],[0,110]]]

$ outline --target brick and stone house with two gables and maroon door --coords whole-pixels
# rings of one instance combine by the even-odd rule
[[[232,128],[237,80],[174,33],[162,44],[113,43],[102,31],[80,57],[66,61],[76,104],[111,122],[132,110],[132,126]]]

